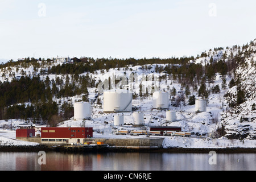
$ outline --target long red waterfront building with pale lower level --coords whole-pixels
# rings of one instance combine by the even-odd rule
[[[41,142],[46,144],[83,143],[93,137],[92,127],[43,127]]]

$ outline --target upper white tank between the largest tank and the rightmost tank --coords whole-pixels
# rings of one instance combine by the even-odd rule
[[[167,92],[153,93],[153,108],[167,109],[169,107],[169,94]]]

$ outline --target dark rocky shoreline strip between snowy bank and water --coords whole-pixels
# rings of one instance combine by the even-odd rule
[[[56,152],[169,152],[169,153],[208,153],[216,151],[217,153],[256,153],[256,148],[129,148],[129,147],[63,147],[63,146],[46,146],[39,144],[36,146],[0,146],[0,152],[39,152],[39,151],[56,151]]]

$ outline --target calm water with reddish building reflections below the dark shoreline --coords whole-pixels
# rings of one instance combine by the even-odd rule
[[[209,164],[210,157],[208,154],[46,152],[46,164],[40,165],[36,152],[0,152],[0,171],[256,170],[256,154],[217,154],[216,165]]]

